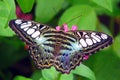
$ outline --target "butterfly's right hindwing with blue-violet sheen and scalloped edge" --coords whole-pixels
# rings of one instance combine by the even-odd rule
[[[82,60],[83,56],[77,51],[76,53],[63,53],[56,57],[54,66],[62,73],[70,73]]]

